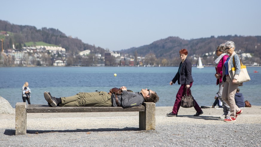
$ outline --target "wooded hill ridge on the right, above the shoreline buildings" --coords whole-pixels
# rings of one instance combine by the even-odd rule
[[[236,45],[236,52],[251,53],[254,57],[261,57],[261,36],[218,36],[209,38],[199,38],[184,40],[179,37],[167,37],[157,40],[149,45],[133,47],[130,49],[121,50],[122,53],[135,54],[145,56],[149,53],[154,53],[157,58],[163,57],[172,59],[178,57],[180,49],[187,49],[189,55],[203,56],[206,53],[216,51],[216,47],[226,41],[233,41]]]

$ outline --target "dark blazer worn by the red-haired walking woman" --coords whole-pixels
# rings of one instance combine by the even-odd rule
[[[191,82],[193,82],[193,78],[191,75],[191,69],[192,69],[191,62],[185,59],[184,62],[183,63],[181,62],[179,66],[181,66],[180,74],[177,72],[175,77],[172,79],[172,82],[175,84],[176,81],[178,80],[178,84],[189,85]]]

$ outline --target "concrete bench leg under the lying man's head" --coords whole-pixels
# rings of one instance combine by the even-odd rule
[[[155,103],[144,102],[144,112],[139,112],[139,128],[140,130],[155,130]]]

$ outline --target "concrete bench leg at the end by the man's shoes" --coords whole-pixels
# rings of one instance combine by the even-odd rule
[[[16,103],[16,135],[26,134],[26,103]]]

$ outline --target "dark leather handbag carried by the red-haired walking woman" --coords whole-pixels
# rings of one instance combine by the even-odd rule
[[[187,91],[189,91],[189,93]],[[186,87],[186,93],[181,98],[180,106],[183,107],[183,108],[190,108],[190,107],[195,106],[195,101],[194,101],[194,98],[191,94],[190,88],[187,89],[187,87]]]

